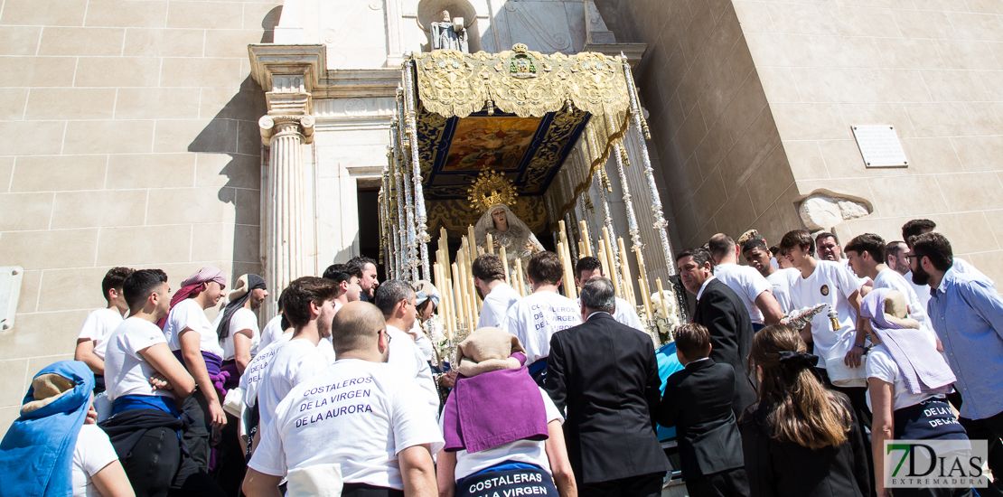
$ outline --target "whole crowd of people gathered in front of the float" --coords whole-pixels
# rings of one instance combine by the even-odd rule
[[[478,256],[479,319],[451,357],[432,283],[380,282],[365,257],[229,292],[212,266],[174,292],[115,267],[75,360],[34,377],[3,438],[0,495],[657,496],[658,426],[694,497],[975,495],[885,485],[888,440],[987,440],[1003,475],[1003,298],[933,222],[902,238],[679,252],[695,304],[667,378],[595,257],[564,281],[536,252],[523,297]]]

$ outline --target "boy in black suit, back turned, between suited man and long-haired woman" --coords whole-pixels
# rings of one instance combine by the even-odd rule
[[[714,362],[710,332],[689,323],[675,330],[676,356],[685,368],[665,385],[658,423],[676,427],[683,480],[690,497],[748,496],[742,441],[731,403],[735,371]]]

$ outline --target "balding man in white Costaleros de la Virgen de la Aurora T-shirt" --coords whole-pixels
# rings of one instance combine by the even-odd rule
[[[338,359],[279,405],[248,465],[244,493],[281,495],[287,473],[290,487],[299,479],[326,487],[336,484],[327,478],[337,468],[345,497],[437,494],[431,455],[444,445],[442,436],[434,413],[414,409],[421,404],[415,380],[386,363],[383,312],[349,302],[331,329]]]

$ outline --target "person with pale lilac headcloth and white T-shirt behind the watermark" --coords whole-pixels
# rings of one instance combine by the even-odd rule
[[[951,411],[944,395],[951,392],[954,372],[937,351],[937,339],[909,317],[906,296],[888,288],[875,288],[861,302],[861,317],[870,319],[868,353],[868,407],[874,413],[871,447],[875,461],[883,461],[886,440],[968,440],[965,429]],[[875,465],[879,497],[885,488],[885,467]],[[951,496],[950,488],[896,488],[901,496]],[[961,495],[971,489],[961,490]]]

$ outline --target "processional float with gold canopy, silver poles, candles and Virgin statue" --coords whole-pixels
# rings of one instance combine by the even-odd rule
[[[402,72],[379,194],[380,257],[390,278],[433,281],[441,294],[437,326],[445,347],[477,322],[481,302],[470,263],[479,254],[494,253],[497,246],[507,281],[524,295],[530,291],[525,248],[539,245],[536,238],[524,247],[496,243],[491,230],[474,229],[496,206],[511,209],[507,212],[532,232],[552,234],[568,297],[577,297],[574,261],[595,255],[617,295],[638,305],[653,342],[672,339],[671,329],[687,320],[686,306],[682,286],[672,277],[672,248],[645,145],[650,134],[626,56],[544,55],[516,44],[500,53],[411,54]],[[630,133],[639,147],[625,146]],[[627,211],[630,252],[616,235],[624,227],[611,214],[613,186],[606,171],[611,155]],[[660,245],[648,254],[664,257],[674,281],[656,278],[655,288],[625,173],[632,159],[644,168],[651,229]],[[601,216],[593,215],[588,193],[594,185]],[[430,229],[439,235],[434,260]],[[496,230],[495,235],[512,238]],[[629,258],[637,263],[637,279]]]

